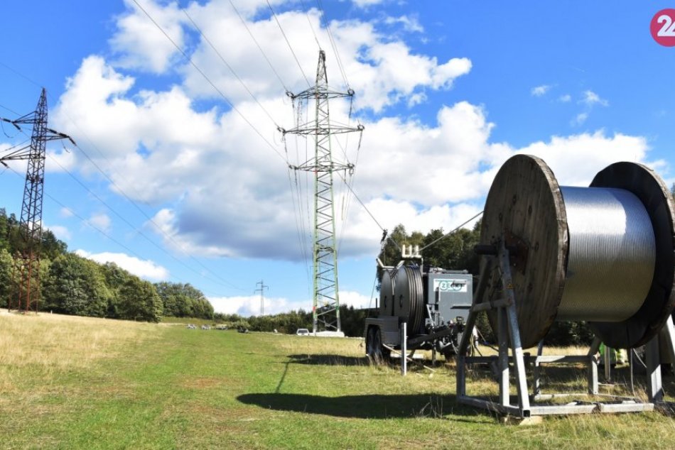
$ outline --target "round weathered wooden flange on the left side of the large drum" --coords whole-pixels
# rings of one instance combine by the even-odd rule
[[[480,243],[495,244],[502,236],[507,246],[519,248],[511,272],[520,339],[524,348],[536,346],[556,319],[568,249],[565,204],[556,177],[543,160],[516,155],[497,172],[485,202]],[[481,258],[481,268],[486,263]],[[485,276],[486,289],[475,302],[504,297],[499,271]],[[488,317],[496,330],[496,312],[489,311]]]

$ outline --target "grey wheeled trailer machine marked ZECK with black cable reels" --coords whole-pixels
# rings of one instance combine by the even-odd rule
[[[382,363],[392,351],[431,350],[432,358],[457,351],[473,297],[473,276],[467,270],[423,265],[419,247],[403,246],[401,261],[382,270],[379,316],[365,322],[366,354]],[[403,331],[403,332],[402,332]]]

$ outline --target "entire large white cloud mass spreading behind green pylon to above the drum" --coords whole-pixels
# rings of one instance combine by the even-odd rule
[[[244,19],[282,79],[297,80],[293,87],[306,87],[296,65],[288,62],[288,48],[274,18],[256,13],[261,4],[251,1],[242,6]],[[166,8],[175,10],[171,5]],[[264,109],[282,126],[291,128],[291,104],[229,4],[193,3],[189,9],[202,31],[227,60],[234,62],[235,70]],[[279,13],[308,74],[315,70],[317,52],[312,40],[307,39],[307,21],[309,18],[320,30],[319,14],[315,9],[308,16],[301,11]],[[222,33],[223,29],[228,33]],[[387,229],[404,224],[409,231],[440,227],[449,231],[482,209],[482,198],[495,173],[514,153],[541,156],[550,161],[556,174],[561,174],[561,182],[569,179],[573,183],[588,183],[599,165],[627,157],[639,161],[647,158],[644,139],[605,136],[601,131],[556,136],[524,148],[493,142],[495,124],[487,120],[484,108],[468,101],[442,106],[433,124],[377,115],[399,101],[414,106],[424,101],[430,89],[452,87],[457,77],[470,72],[471,61],[451,58],[439,64],[435,57],[411,53],[401,40],[380,35],[374,23],[334,21],[331,30],[350,83],[357,96],[362,94],[357,97],[357,108],[376,112],[374,119],[365,121],[354,190]],[[323,42],[325,33],[318,36]],[[146,51],[139,45],[139,55]],[[97,155],[92,158],[109,170],[116,183],[111,189],[158,207],[151,225],[163,236],[166,246],[202,256],[298,260],[302,252],[296,224],[298,216],[306,219],[312,209],[304,203],[311,198],[313,182],[306,178],[311,175],[292,173],[289,183],[286,162],[274,153],[286,154],[274,122],[248,94],[240,92],[236,79],[223,69],[207,45],[196,39],[192,55],[219,87],[227,87],[224,92],[236,102],[245,120],[233,110],[197,110],[193,96],[214,94],[189,67],[178,67],[176,73],[182,78],[173,86],[149,90],[136,86],[143,77],[136,80],[104,58],[90,56],[69,80],[53,114],[55,126],[74,134],[68,131],[72,118],[102,153],[100,158],[104,159]],[[174,62],[171,67],[176,65]],[[340,79],[330,56],[328,71],[329,79]],[[591,104],[603,104],[600,97],[586,98]],[[333,119],[347,122],[344,102],[332,102],[330,111]],[[585,114],[587,117],[588,112]],[[345,145],[345,136],[338,140]],[[347,146],[352,160],[356,141],[350,138],[351,145]],[[289,163],[303,163],[304,141],[296,146],[295,138],[287,136],[286,143]],[[334,155],[342,158],[340,146],[334,148]],[[94,170],[79,155],[75,157],[77,168],[85,173]],[[589,163],[580,167],[579,160]],[[297,202],[293,203],[296,189],[302,191],[299,213]],[[341,256],[377,253],[382,231],[355,200],[347,209],[345,194],[335,177]],[[102,221],[107,226],[105,219]],[[346,224],[344,228],[342,224]],[[306,237],[309,229],[308,225],[301,235]]]

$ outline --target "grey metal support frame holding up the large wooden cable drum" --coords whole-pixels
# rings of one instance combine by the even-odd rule
[[[605,395],[611,397],[611,401],[601,402],[597,400],[575,400],[566,404],[536,404],[539,400],[553,400],[558,397],[576,396],[583,397],[588,395],[598,396],[598,358],[595,354],[600,346],[599,339],[595,339],[590,349],[585,355],[576,356],[544,356],[543,342],[539,344],[536,356],[524,355],[520,341],[520,332],[517,322],[516,302],[511,278],[511,265],[509,263],[509,251],[504,246],[503,241],[497,249],[496,256],[486,256],[485,267],[480,274],[479,284],[475,292],[475,299],[481,298],[487,285],[487,275],[492,270],[495,260],[499,264],[502,275],[502,287],[504,290],[504,299],[490,303],[474,302],[470,309],[467,319],[466,329],[463,333],[458,351],[457,363],[457,400],[465,405],[479,407],[502,415],[512,415],[515,417],[530,417],[534,415],[568,415],[584,414],[589,412],[642,412],[654,410],[655,404],[664,399],[661,369],[659,363],[659,341],[655,336],[647,345],[647,371],[649,375],[649,402],[640,402],[633,398],[618,397],[614,395]],[[478,312],[486,309],[496,309],[497,312],[497,346],[498,356],[465,356],[468,350],[469,339],[475,327]],[[671,318],[666,322],[668,330],[669,350],[673,353],[675,359],[675,328]],[[510,353],[510,354],[509,354]],[[468,395],[467,385],[467,366],[475,363],[489,363],[497,366],[497,383],[499,386],[499,395],[495,401],[494,397],[474,397]],[[588,390],[585,393],[541,393],[541,364],[544,363],[585,363],[588,365]],[[533,366],[533,384],[534,390],[530,395],[527,388],[526,365]],[[517,395],[513,397],[511,392],[511,378],[509,367],[513,368],[514,381],[516,384]]]

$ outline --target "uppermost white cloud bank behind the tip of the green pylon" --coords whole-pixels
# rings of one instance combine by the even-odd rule
[[[284,29],[284,38],[274,18],[265,14],[256,15],[258,6],[263,7],[260,11],[266,10],[266,4],[259,1],[251,2],[247,8],[240,8],[245,10],[243,16],[248,30],[229,6],[211,2],[204,5],[193,3],[188,8],[190,17],[220,54],[215,53],[211,45],[192,30],[190,33],[195,33],[197,43],[190,57],[220,92],[225,93],[227,99],[234,103],[251,100],[247,89],[258,99],[269,99],[279,98],[284,94],[285,87],[293,92],[308,87],[298,70],[295,58],[288,50],[286,38],[309,83],[313,82],[316,70],[317,48],[314,40],[307,38],[308,35],[313,31],[322,48],[332,49],[317,9],[307,12],[277,11],[276,18]],[[166,14],[171,15],[171,11]],[[146,20],[142,12],[135,11],[134,15],[139,16],[139,21]],[[399,19],[401,20],[396,19],[394,24],[401,28],[419,28],[419,23],[416,25],[414,18],[404,16]],[[358,20],[330,22],[334,42],[351,87],[357,92],[367,93],[359,97],[360,107],[381,111],[398,101],[406,101],[407,97],[420,89],[450,89],[457,77],[470,71],[471,62],[467,58],[451,58],[446,62],[438,62],[435,57],[412,53],[402,40],[392,38],[392,33],[377,31],[377,24],[377,21]],[[186,21],[184,26],[189,29],[192,25]],[[222,30],[227,30],[227,33],[222,33]],[[261,56],[249,31],[264,50],[271,65],[276,67],[276,74]],[[129,31],[123,28],[120,33],[126,35]],[[154,54],[151,47],[143,45],[129,45],[127,50],[136,52],[139,60],[147,60]],[[239,79],[223,64],[221,57],[246,84],[247,89],[242,87]],[[329,70],[333,71],[329,80],[331,84],[340,87],[344,82],[338,75],[338,60],[332,50],[327,52],[327,58]],[[181,62],[178,71],[185,77],[183,87],[190,96],[220,99],[220,94],[215,92],[210,83],[205,82],[204,77],[192,65]],[[281,85],[277,75],[281,77],[285,87]],[[273,116],[276,121],[282,117]]]

